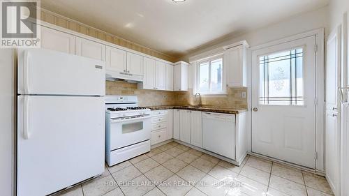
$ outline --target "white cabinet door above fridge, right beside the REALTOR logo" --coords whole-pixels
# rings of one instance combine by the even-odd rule
[[[75,54],[75,37],[47,27],[41,27],[41,47]]]

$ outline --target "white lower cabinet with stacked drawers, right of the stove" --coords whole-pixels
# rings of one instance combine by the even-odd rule
[[[172,139],[172,110],[151,111],[151,145]]]

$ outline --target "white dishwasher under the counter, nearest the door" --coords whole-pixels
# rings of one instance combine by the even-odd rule
[[[202,112],[202,148],[235,160],[235,114]]]

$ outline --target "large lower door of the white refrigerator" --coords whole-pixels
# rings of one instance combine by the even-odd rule
[[[18,96],[17,196],[48,195],[104,172],[103,97]]]

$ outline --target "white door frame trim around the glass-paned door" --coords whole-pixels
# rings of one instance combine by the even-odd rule
[[[249,129],[249,141],[248,147],[252,151],[252,53],[255,50],[260,50],[265,47],[271,47],[273,45],[279,45],[282,43],[287,43],[292,40],[297,40],[301,38],[306,38],[309,36],[315,36],[315,44],[317,47],[315,52],[315,151],[317,160],[315,161],[315,171],[324,172],[325,171],[325,29],[315,29],[313,31],[307,31],[304,33],[299,33],[294,36],[289,36],[287,38],[282,38],[279,40],[274,40],[269,43],[264,43],[262,45],[257,45],[251,47],[248,50],[248,129]],[[251,152],[252,153],[252,152]],[[276,159],[277,160],[277,159]],[[281,161],[281,160],[279,160]],[[282,161],[281,161],[282,162]],[[297,166],[297,165],[295,165]],[[299,167],[299,166],[298,166]]]

